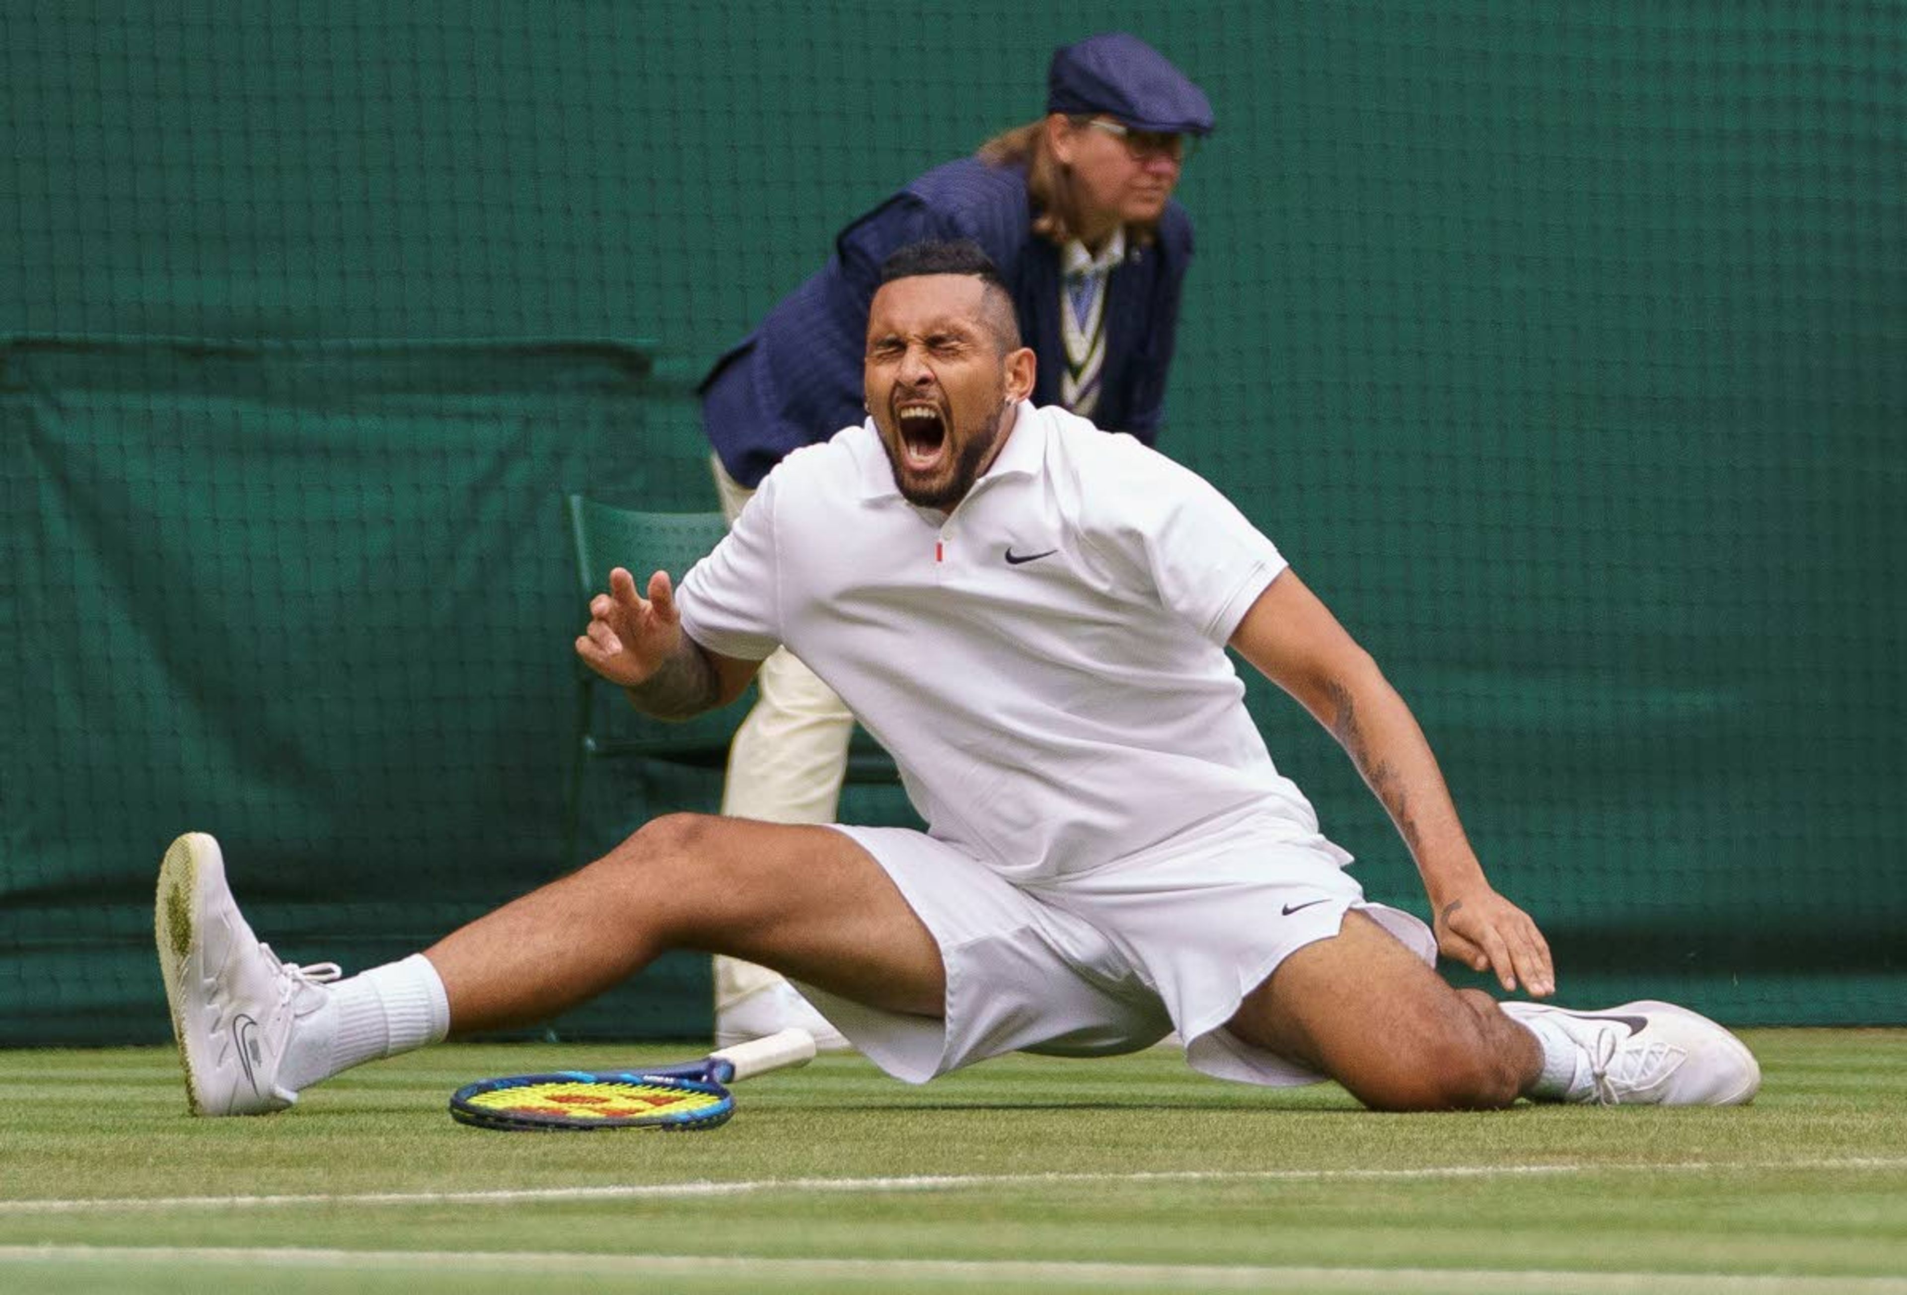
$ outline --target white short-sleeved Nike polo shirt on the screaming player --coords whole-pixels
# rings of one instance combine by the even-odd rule
[[[894,755],[929,832],[1024,883],[1249,811],[1316,832],[1224,654],[1283,568],[1198,475],[1020,404],[946,515],[900,496],[871,420],[795,450],[679,605],[725,656],[788,645]]]

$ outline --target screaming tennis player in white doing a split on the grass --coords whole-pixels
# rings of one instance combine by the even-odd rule
[[[1383,1110],[1733,1104],[1718,1024],[1455,990],[1438,950],[1548,997],[1537,925],[1486,879],[1404,700],[1213,486],[1037,408],[971,244],[887,263],[870,418],[799,450],[677,589],[625,568],[578,654],[654,715],[734,698],[780,645],[894,753],[929,832],[671,814],[420,956],[280,963],[185,835],[158,950],[195,1112],[267,1112],[446,1034],[547,1018],[671,948],[774,967],[889,1074],[1179,1030],[1249,1083]],[[1367,900],[1266,753],[1232,647],[1325,725],[1417,860],[1436,931]]]

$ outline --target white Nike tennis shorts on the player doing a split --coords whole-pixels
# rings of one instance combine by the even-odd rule
[[[1194,1070],[1243,1083],[1322,1076],[1224,1030],[1295,950],[1362,910],[1436,963],[1430,929],[1371,904],[1348,854],[1280,820],[1232,820],[1037,887],[908,828],[849,828],[921,917],[946,963],[942,1020],[803,996],[881,1070],[910,1083],[1003,1053],[1104,1057],[1179,1030]]]

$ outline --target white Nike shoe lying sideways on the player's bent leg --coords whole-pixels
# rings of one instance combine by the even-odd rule
[[[1754,1053],[1707,1017],[1642,999],[1606,1011],[1505,1001],[1528,1022],[1541,1017],[1583,1051],[1566,1102],[1598,1106],[1739,1106],[1762,1087]]]

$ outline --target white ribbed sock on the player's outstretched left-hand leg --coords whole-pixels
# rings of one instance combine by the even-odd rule
[[[330,988],[297,1022],[278,1081],[294,1093],[379,1057],[397,1057],[450,1034],[450,999],[423,954],[372,967]]]

